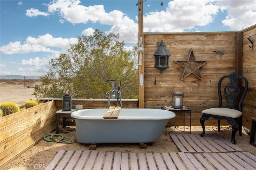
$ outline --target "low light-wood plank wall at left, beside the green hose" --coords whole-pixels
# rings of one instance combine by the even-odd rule
[[[0,166],[35,145],[55,128],[54,101],[0,117]]]

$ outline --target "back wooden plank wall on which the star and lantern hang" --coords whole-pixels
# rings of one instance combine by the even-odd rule
[[[161,40],[171,54],[169,68],[162,74],[154,68],[154,53]],[[235,71],[235,45],[236,32],[144,33],[144,108],[170,106],[172,92],[181,91],[185,106],[192,109],[192,125],[200,125],[201,111],[218,105],[218,80]],[[208,61],[200,68],[203,80],[190,74],[181,81],[183,67],[174,61],[187,61],[191,48],[196,61]],[[214,52],[220,50],[224,55]],[[217,121],[211,119],[205,124],[217,125]],[[226,121],[222,121],[224,124]]]

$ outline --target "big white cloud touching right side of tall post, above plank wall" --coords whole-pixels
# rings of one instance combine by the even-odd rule
[[[168,3],[166,11],[145,14],[144,31],[183,32],[196,25],[207,25],[217,12],[218,6],[209,0],[174,0]]]

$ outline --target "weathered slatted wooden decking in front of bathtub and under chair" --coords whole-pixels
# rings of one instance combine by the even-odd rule
[[[170,134],[181,152],[127,153],[60,150],[46,169],[54,170],[255,170],[256,156],[218,135]],[[186,139],[186,140],[185,140]],[[203,141],[202,141],[203,140]],[[208,141],[211,144],[200,145]],[[190,142],[187,142],[190,141]],[[215,143],[213,141],[216,141]],[[198,143],[199,142],[199,143]],[[216,145],[216,143],[218,145]],[[230,145],[230,144],[231,145]],[[197,145],[196,145],[197,144]],[[200,147],[199,147],[200,146]]]

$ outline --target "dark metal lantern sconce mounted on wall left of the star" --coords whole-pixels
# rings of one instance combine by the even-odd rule
[[[169,67],[168,61],[169,61],[170,55],[171,54],[166,50],[163,41],[161,41],[161,44],[158,47],[158,50],[156,51],[156,53],[154,53],[154,56],[155,56],[154,67],[160,69],[161,74],[164,69]]]

